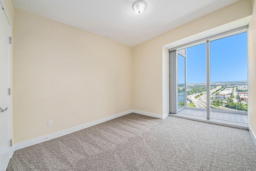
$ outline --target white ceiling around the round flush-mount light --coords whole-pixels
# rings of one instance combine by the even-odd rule
[[[14,8],[134,47],[238,0],[12,0]]]

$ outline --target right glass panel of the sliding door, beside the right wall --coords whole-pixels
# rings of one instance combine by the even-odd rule
[[[210,42],[210,118],[247,123],[247,32]]]

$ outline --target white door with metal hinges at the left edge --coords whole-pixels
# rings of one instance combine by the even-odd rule
[[[10,150],[10,97],[8,88],[10,86],[9,66],[10,66],[10,24],[5,16],[4,10],[0,9],[0,171],[6,171],[8,166]]]

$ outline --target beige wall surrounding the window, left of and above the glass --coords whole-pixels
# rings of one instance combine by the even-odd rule
[[[166,113],[166,49],[164,45],[252,15],[251,1],[240,0],[133,48],[133,108]],[[135,102],[140,102],[136,106]]]

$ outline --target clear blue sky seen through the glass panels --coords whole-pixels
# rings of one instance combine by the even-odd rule
[[[184,59],[178,56],[178,84]],[[211,82],[247,80],[247,32],[210,42]],[[180,69],[180,70],[179,70]],[[187,48],[187,83],[206,82],[206,44]]]

